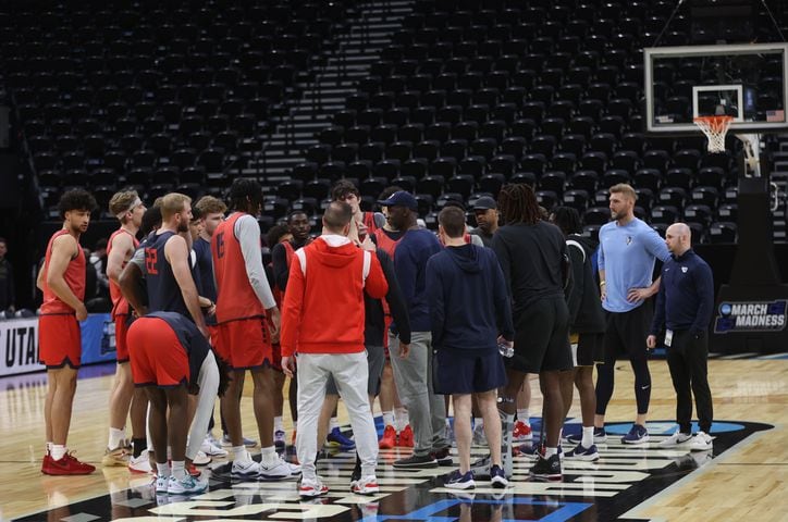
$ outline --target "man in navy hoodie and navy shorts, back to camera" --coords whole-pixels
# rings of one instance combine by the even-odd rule
[[[514,339],[504,274],[492,250],[465,243],[465,213],[459,208],[444,208],[438,222],[439,236],[446,248],[427,262],[426,285],[432,343],[438,351],[434,383],[438,393],[452,394],[459,453],[459,471],[448,476],[445,486],[473,487],[470,471],[473,394],[490,445],[492,485],[506,487],[495,394],[496,388],[506,384],[497,343],[512,346]]]

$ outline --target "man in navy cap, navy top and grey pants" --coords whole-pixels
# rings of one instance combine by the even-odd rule
[[[394,271],[410,318],[410,347],[401,341],[392,324],[389,349],[394,381],[414,430],[414,452],[394,462],[394,468],[435,468],[452,463],[446,440],[446,407],[432,385],[432,331],[427,302],[427,261],[441,251],[435,235],[419,228],[418,203],[405,190],[378,201],[387,207],[389,222],[404,231],[394,256]]]

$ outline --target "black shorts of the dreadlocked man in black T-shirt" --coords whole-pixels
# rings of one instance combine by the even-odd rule
[[[519,314],[515,323],[515,356],[506,368],[526,373],[572,368],[569,346],[569,309],[563,297],[540,299]]]

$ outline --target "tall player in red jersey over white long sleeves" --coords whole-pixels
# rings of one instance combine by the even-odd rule
[[[296,465],[276,453],[273,443],[273,352],[272,334],[279,333],[280,313],[268,285],[260,250],[260,226],[256,215],[262,206],[262,187],[255,179],[237,178],[230,187],[233,211],[217,226],[211,238],[211,257],[217,281],[217,351],[233,370],[222,398],[222,412],[232,440],[235,476],[288,478]],[[267,318],[271,319],[271,328]],[[251,460],[243,444],[241,425],[241,374],[251,372],[254,409],[260,435],[260,463]]]

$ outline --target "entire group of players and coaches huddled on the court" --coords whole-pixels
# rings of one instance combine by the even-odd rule
[[[435,234],[419,224],[411,194],[390,187],[378,201],[381,212],[365,212],[355,185],[340,181],[320,235],[311,236],[309,216],[298,210],[269,231],[268,265],[256,181],[236,179],[226,204],[206,196],[193,206],[173,192],[147,209],[133,190],[115,194],[109,210],[120,227],[108,241],[107,276],[118,366],[103,465],[153,474],[157,494],[190,495],[207,487],[197,467],[227,457],[234,478],[300,476],[299,495],[316,497],[328,492],[316,461],[329,445],[356,451],[350,490],[370,495],[380,490],[379,449],[413,448],[395,469],[453,467],[454,438],[459,467],[448,468],[445,487],[472,488],[484,477],[505,488],[518,455],[535,460],[533,480],[557,481],[562,459],[604,457],[599,445],[607,440],[605,412],[621,356],[630,361],[637,399],[621,442],[648,443],[648,355],[660,340],[678,430],[658,445],[711,449],[711,270],[691,249],[687,225],[673,224],[662,239],[635,216],[632,187],[614,185],[610,192],[612,221],[595,245],[581,235],[577,210],[545,211],[528,185],[507,185],[497,200],[471,200],[473,229],[464,206],[447,203]],[[66,449],[78,321],[87,318],[79,236],[95,207],[85,190],[62,196],[63,228],[50,239],[38,275],[39,352],[49,381],[46,474],[95,471]],[[249,452],[257,443],[243,435],[247,372],[259,458]],[[539,375],[543,396],[538,442],[529,373]],[[294,424],[290,461],[282,452],[285,384]],[[565,439],[571,449],[564,451],[575,387],[582,431]],[[217,397],[221,440],[213,436]],[[338,426],[340,399],[352,436]],[[487,446],[489,457],[471,462],[472,445]]]

